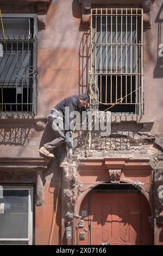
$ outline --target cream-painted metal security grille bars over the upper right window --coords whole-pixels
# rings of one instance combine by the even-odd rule
[[[110,13],[108,12],[108,10],[110,11]],[[113,12],[113,10],[116,13]],[[128,10],[130,10],[130,13],[128,13]],[[136,13],[133,13],[133,10],[136,11]],[[118,13],[118,11],[119,11],[119,13]],[[120,13],[120,11],[121,11],[121,13]],[[126,11],[126,13],[123,13],[123,11]],[[91,44],[90,44],[91,45],[90,46],[90,51],[91,52],[90,52],[90,78],[89,78],[89,86],[90,86],[90,88],[89,89],[90,89],[90,93],[94,93],[94,95],[96,96],[96,99],[98,97],[98,101],[96,102],[95,99],[93,99],[93,100],[91,99],[90,103],[91,103],[91,105],[96,106],[96,109],[98,108],[98,105],[100,104],[99,103],[99,101],[100,101],[100,99],[99,99],[99,91],[98,91],[98,89],[99,89],[98,88],[98,79],[99,79],[99,77],[102,77],[102,76],[105,76],[105,77],[106,76],[111,76],[112,77],[112,76],[115,75],[114,72],[112,72],[112,69],[111,69],[111,71],[109,71],[109,65],[108,65],[109,63],[107,62],[107,53],[106,53],[106,57],[105,57],[106,58],[106,62],[107,62],[106,65],[108,65],[108,68],[106,68],[106,71],[105,71],[106,74],[102,74],[102,72],[99,72],[99,74],[97,74],[98,72],[97,72],[97,66],[96,66],[97,65],[96,64],[96,62],[97,62],[97,48],[96,47],[99,44],[98,41],[97,41],[97,17],[98,16],[101,17],[101,24],[102,24],[103,17],[106,16],[105,19],[106,19],[106,22],[107,22],[107,20],[108,20],[107,16],[108,15],[110,15],[111,17],[115,17],[115,19],[116,19],[117,15],[121,15],[122,16],[122,14],[124,15],[124,17],[126,17],[126,16],[131,17],[131,15],[136,15],[136,17],[138,17],[137,15],[140,15],[140,20],[141,20],[141,25],[140,25],[140,34],[141,34],[141,42],[140,42],[140,49],[141,49],[141,53],[140,53],[140,63],[141,63],[140,65],[141,66],[140,67],[141,68],[140,68],[140,71],[141,72],[140,73],[141,74],[140,75],[137,75],[137,74],[135,75],[135,81],[136,81],[135,88],[137,88],[136,90],[138,90],[137,94],[135,93],[135,95],[136,95],[135,96],[135,102],[136,102],[135,103],[135,112],[133,113],[133,112],[129,112],[129,111],[127,111],[127,112],[122,111],[122,112],[112,112],[112,114],[116,114],[116,115],[142,115],[143,114],[143,9],[142,8],[131,8],[131,9],[130,8],[100,8],[100,9],[99,8],[92,8],[91,9],[91,32],[90,32],[91,33]],[[93,16],[95,16],[96,18],[93,18]],[[93,19],[94,19],[94,21],[93,21]],[[96,19],[96,22],[95,22],[95,19]],[[112,19],[111,19],[111,21],[112,21]],[[116,21],[117,21],[117,19],[116,19]],[[96,27],[93,27],[93,22],[95,22],[94,26],[96,26]],[[131,26],[132,26],[132,23],[131,23]],[[122,25],[121,25],[121,29],[122,29]],[[136,29],[137,29],[137,31],[139,30],[139,28],[137,28],[137,18],[136,18]],[[112,28],[111,28],[111,31],[112,31]],[[132,33],[132,27],[131,27],[130,33]],[[101,34],[99,34],[98,39],[100,37],[101,40],[102,40],[102,36],[103,35],[102,35],[102,25],[101,25]],[[106,35],[105,36],[107,38],[107,29],[106,29]],[[112,33],[111,33],[111,36],[112,36]],[[117,36],[116,36],[116,38],[117,38]],[[136,33],[136,38],[137,38],[137,33]],[[96,41],[96,42],[93,42],[93,41]],[[124,45],[125,44],[127,45],[128,42],[126,41],[124,43]],[[120,47],[122,49],[123,42],[121,41],[121,43],[118,43],[116,41],[116,43],[113,44],[112,43],[112,39],[111,39],[111,44],[109,44],[108,43],[108,39],[106,39],[104,44],[103,44],[103,41],[101,41],[101,45],[105,45],[106,46],[106,52],[107,52],[108,51],[107,50],[108,49],[107,45],[120,45]],[[138,43],[137,43],[137,41],[136,41],[135,44],[133,44],[133,42],[131,42],[131,45],[138,45]],[[132,48],[133,48],[133,46],[131,47],[131,49]],[[111,46],[111,49],[112,49],[112,46]],[[139,48],[136,46],[136,54],[137,54],[138,50],[139,50]],[[101,53],[101,58],[102,58],[102,53]],[[132,58],[131,58],[131,60],[132,60]],[[136,57],[136,60],[137,60],[137,57]],[[101,65],[102,65],[103,60],[100,60],[100,62],[101,62]],[[122,63],[122,60],[121,60],[121,63]],[[132,62],[132,65],[133,65],[133,62]],[[111,63],[111,67],[112,67],[112,63]],[[117,68],[117,66],[116,66],[116,68]],[[122,67],[121,67],[121,69],[122,69]],[[136,70],[137,70],[137,64],[136,64]],[[122,74],[120,74],[120,75],[116,74],[117,77],[121,76],[121,80],[122,80],[122,76],[123,75],[126,76],[126,77],[128,76],[127,72],[125,73],[125,72],[122,72],[122,70],[121,70],[121,73]],[[129,76],[131,77],[133,75],[134,75],[134,72],[130,71]],[[131,84],[131,86],[132,86],[132,84]],[[102,88],[102,85],[101,85],[101,88]],[[117,85],[116,85],[115,90],[117,90]],[[122,81],[121,81],[121,90],[122,90]],[[126,95],[127,95],[127,92],[126,92]],[[132,96],[132,94],[131,94],[131,96]],[[121,96],[121,97],[122,97],[121,99],[123,99],[123,96]],[[127,101],[127,98],[126,98],[126,101]],[[108,111],[110,111],[111,110],[110,108],[112,107],[112,105],[116,106],[117,103],[120,103],[120,105],[121,105],[122,102],[121,101],[119,101],[119,102],[118,101],[117,102],[112,102],[112,100],[111,100],[111,103],[104,102],[104,105],[105,106],[108,105],[108,106],[106,106],[106,108],[108,108]],[[122,103],[122,104],[126,104],[126,103]],[[127,102],[127,104],[129,104],[129,103]],[[131,101],[131,104],[134,105],[134,102]],[[107,109],[106,109],[106,111],[107,111]]]

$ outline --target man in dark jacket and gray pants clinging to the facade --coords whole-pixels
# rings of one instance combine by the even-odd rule
[[[70,124],[74,117],[70,118],[70,114],[73,111],[79,112],[88,102],[89,95],[86,93],[79,96],[73,95],[66,97],[66,99],[61,100],[54,108],[52,108],[48,115],[48,124],[54,131],[55,139],[44,144],[43,147],[39,149],[39,152],[45,156],[54,157],[54,154],[50,153],[50,151],[60,146],[60,153],[62,151],[60,156],[60,167],[62,167],[63,164],[68,165],[67,154],[65,153],[65,133],[68,130],[70,131],[70,134],[72,133]],[[67,108],[69,110],[68,112]]]

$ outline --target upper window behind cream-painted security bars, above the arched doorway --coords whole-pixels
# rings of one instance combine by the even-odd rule
[[[142,9],[91,10],[92,104],[142,113]]]

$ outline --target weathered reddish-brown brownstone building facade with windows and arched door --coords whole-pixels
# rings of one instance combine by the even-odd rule
[[[162,1],[0,7],[0,244],[162,245]],[[58,151],[39,155],[47,116],[84,92],[93,127],[60,168]],[[108,134],[95,129],[104,112]]]

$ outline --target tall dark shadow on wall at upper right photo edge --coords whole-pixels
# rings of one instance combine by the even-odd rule
[[[163,52],[163,50],[161,50],[161,48],[163,48],[163,44],[161,44],[161,34],[163,33],[161,28],[161,25],[163,25],[163,3],[160,7],[158,15],[156,16],[155,23],[158,23],[158,45],[157,45],[158,52],[157,52],[157,63],[153,72],[153,77],[162,78],[163,77],[163,56],[159,56],[159,55],[160,53],[162,55],[162,52]]]

